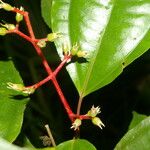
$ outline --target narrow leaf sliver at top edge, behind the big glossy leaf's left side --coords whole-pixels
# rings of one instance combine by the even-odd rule
[[[44,10],[42,11],[42,16],[49,27],[51,27],[51,5],[52,0],[41,0],[41,7]]]

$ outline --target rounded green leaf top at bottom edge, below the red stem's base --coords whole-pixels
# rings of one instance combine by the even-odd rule
[[[86,140],[76,139],[59,144],[56,150],[96,150],[96,148]]]

